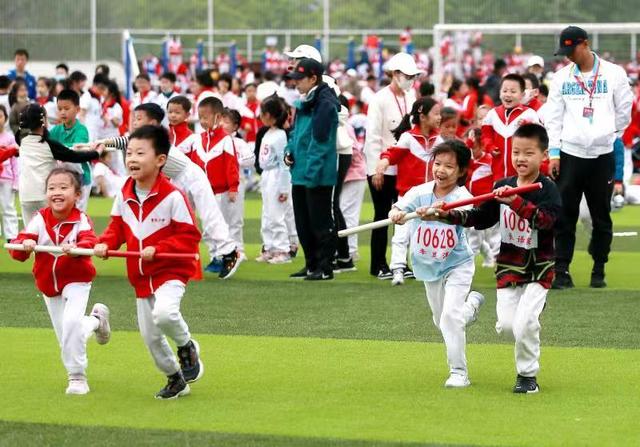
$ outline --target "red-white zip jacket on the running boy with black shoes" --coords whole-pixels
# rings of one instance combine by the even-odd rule
[[[184,194],[160,173],[143,201],[135,192],[135,181],[127,179],[99,242],[110,250],[126,243],[132,251],[155,247],[156,253],[198,253],[200,231]],[[170,280],[186,284],[195,271],[196,262],[190,260],[127,258],[127,275],[138,298],[150,297]]]

